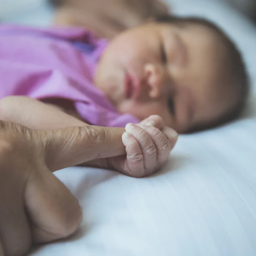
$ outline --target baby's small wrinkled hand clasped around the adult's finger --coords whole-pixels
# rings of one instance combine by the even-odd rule
[[[157,172],[168,160],[178,137],[174,130],[163,126],[159,116],[150,116],[138,125],[128,124],[125,131],[122,142],[127,155],[116,158],[115,167],[132,177]]]

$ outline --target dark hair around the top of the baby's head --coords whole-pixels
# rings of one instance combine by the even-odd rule
[[[222,125],[224,123],[230,122],[238,118],[244,110],[247,102],[247,96],[249,93],[250,82],[247,75],[246,67],[244,61],[241,57],[241,53],[237,49],[236,45],[231,41],[231,39],[215,24],[212,22],[199,18],[199,17],[177,17],[177,16],[162,16],[155,19],[159,23],[172,23],[179,27],[186,26],[188,24],[198,24],[212,29],[217,36],[221,38],[221,41],[227,48],[227,83],[229,86],[236,90],[236,100],[231,104],[229,109],[227,109],[221,116],[218,116],[218,120],[215,120],[211,124],[203,124],[197,127],[193,127],[191,131],[194,132],[198,130],[204,130],[208,128],[213,128],[215,126]],[[225,85],[223,85],[225,86]]]

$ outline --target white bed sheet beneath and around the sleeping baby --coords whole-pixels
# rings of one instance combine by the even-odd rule
[[[84,221],[70,239],[31,256],[256,255],[256,26],[221,3],[172,2],[175,13],[207,17],[238,44],[252,82],[246,113],[223,127],[180,136],[169,162],[151,177],[79,167],[56,172],[79,199]],[[5,20],[49,24],[50,10],[34,8],[38,15],[34,9]]]

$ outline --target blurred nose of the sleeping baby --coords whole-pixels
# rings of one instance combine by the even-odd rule
[[[164,70],[158,64],[146,64],[145,76],[148,84],[148,96],[152,99],[160,97],[163,91]]]

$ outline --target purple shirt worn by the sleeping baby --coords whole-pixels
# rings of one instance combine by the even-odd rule
[[[68,99],[93,125],[137,123],[130,114],[119,114],[93,85],[97,62],[107,45],[108,41],[81,28],[0,26],[0,98]]]

